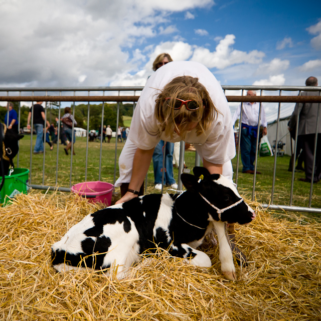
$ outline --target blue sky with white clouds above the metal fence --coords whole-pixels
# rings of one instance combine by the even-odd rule
[[[222,85],[321,81],[321,2],[303,4],[2,0],[0,87],[144,85],[162,52]]]

